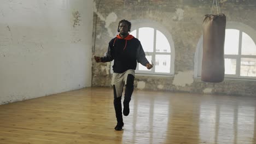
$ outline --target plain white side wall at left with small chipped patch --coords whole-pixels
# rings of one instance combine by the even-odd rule
[[[0,104],[91,86],[92,11],[92,0],[1,0]]]

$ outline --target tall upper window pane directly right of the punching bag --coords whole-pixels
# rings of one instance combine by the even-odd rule
[[[237,55],[239,46],[239,31],[237,29],[226,29],[224,53],[225,55]]]

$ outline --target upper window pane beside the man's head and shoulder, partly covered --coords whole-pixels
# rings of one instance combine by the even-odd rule
[[[154,47],[154,28],[142,27],[139,28],[138,39],[144,51],[153,52]]]

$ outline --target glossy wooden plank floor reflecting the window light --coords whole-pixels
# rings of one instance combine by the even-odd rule
[[[256,143],[256,97],[135,91],[115,131],[110,88],[0,105],[0,143]]]

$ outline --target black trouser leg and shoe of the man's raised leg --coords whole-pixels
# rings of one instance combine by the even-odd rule
[[[129,74],[127,76],[127,82],[125,85],[125,98],[124,98],[124,110],[123,110],[123,113],[125,116],[128,116],[130,113],[129,103],[131,101],[131,95],[133,92],[133,81],[134,81],[134,76]]]

